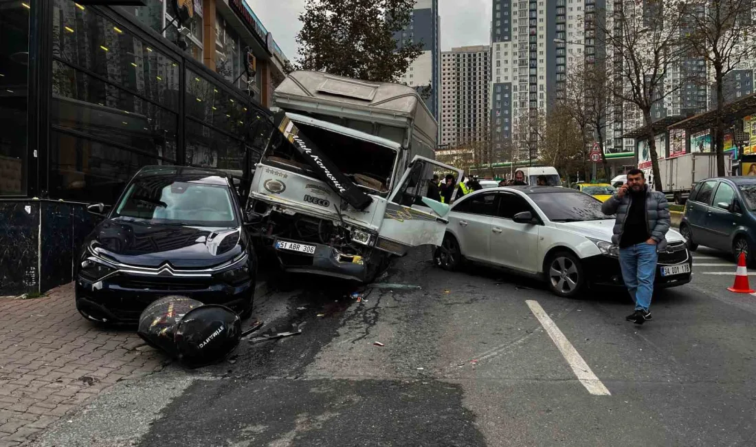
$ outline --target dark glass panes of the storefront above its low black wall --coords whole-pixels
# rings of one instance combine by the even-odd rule
[[[50,92],[48,108],[36,116],[28,113],[25,63],[35,32],[29,29],[33,6],[0,14],[5,72],[0,73],[5,92],[0,112],[4,123],[11,123],[3,126],[10,132],[0,140],[7,179],[0,194],[113,203],[138,169],[155,164],[214,167],[249,178],[262,150],[250,135],[270,124],[268,112],[231,84],[242,64],[240,39],[232,30],[220,32],[216,47],[225,51],[219,61],[228,73],[218,74],[198,60],[201,47],[181,51],[172,45],[170,26],[167,39],[160,38],[157,33],[170,20],[160,0],[118,8],[70,0],[37,3],[49,5],[42,27],[51,34],[51,45],[38,59],[39,70],[50,67],[39,79]],[[135,20],[126,20],[129,14]],[[201,39],[201,22],[191,29],[200,34],[190,40]],[[29,120],[48,129],[48,138],[39,138],[34,147],[44,172],[26,163]],[[27,188],[29,179],[33,185]]]

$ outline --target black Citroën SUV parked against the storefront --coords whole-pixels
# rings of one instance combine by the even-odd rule
[[[76,308],[102,323],[135,323],[162,296],[189,296],[252,312],[257,262],[231,177],[147,166],[82,245]]]

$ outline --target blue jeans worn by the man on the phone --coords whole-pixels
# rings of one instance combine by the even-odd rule
[[[640,244],[619,249],[619,265],[627,291],[635,301],[636,310],[649,311],[651,295],[654,293],[656,276],[656,245]]]

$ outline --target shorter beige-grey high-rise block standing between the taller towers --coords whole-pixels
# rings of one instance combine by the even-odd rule
[[[488,139],[491,47],[452,48],[441,61],[441,144]]]

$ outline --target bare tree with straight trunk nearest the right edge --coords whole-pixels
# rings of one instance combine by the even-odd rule
[[[706,61],[714,73],[717,175],[725,175],[724,76],[754,54],[754,49],[743,42],[756,26],[751,17],[753,9],[753,0],[698,0],[681,11],[688,28],[685,39],[689,51]]]

